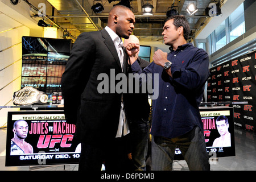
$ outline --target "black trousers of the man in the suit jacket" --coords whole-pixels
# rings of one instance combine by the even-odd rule
[[[126,138],[115,138],[105,144],[81,143],[79,171],[125,171],[127,163]]]

